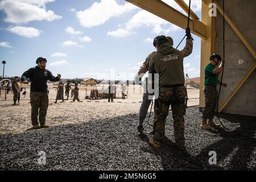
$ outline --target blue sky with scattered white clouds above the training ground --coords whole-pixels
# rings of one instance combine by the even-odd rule
[[[164,2],[184,13],[174,0]],[[200,9],[201,0],[192,1],[199,17]],[[44,56],[47,69],[63,78],[133,79],[159,34],[171,36],[176,47],[185,30],[123,0],[0,1],[0,59],[7,76],[21,76]],[[193,38],[184,72],[199,77],[200,38]]]

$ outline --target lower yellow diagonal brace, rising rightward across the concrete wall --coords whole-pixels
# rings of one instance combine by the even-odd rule
[[[256,62],[254,62],[254,64],[251,66],[251,68],[249,69],[249,71],[247,71],[247,73],[245,74],[245,76],[242,77],[242,79],[240,80],[240,82],[237,84],[236,88],[234,88],[234,90],[232,91],[232,93],[229,94],[229,97],[221,104],[220,109],[218,109],[219,112],[221,112],[224,107],[228,104],[228,102],[230,101],[230,99],[234,96],[234,94],[237,93],[237,90],[240,89],[240,87],[242,86],[242,84],[247,80],[247,78],[251,75],[251,73],[254,71],[254,69],[256,68]]]

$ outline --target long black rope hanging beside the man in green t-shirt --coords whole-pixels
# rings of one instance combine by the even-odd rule
[[[225,7],[224,7],[224,0],[222,0],[222,9],[223,9],[223,32],[222,32],[222,36],[223,36],[223,60],[225,61]],[[220,120],[220,115],[218,113],[218,101],[220,100],[220,93],[221,93],[221,86],[222,86],[222,78],[223,78],[223,73],[224,73],[224,61],[222,61],[222,73],[221,73],[221,81],[220,81],[220,89],[218,90],[218,100],[217,100],[217,117],[218,117],[218,121],[221,123],[221,125],[224,127],[224,129],[230,131],[228,128],[226,128],[221,120]]]

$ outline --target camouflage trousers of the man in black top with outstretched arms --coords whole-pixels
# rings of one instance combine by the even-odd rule
[[[38,109],[40,125],[44,125],[46,123],[46,114],[48,109],[48,94],[31,92],[30,96],[32,125],[38,125]]]

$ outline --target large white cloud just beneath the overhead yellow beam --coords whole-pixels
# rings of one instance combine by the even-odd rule
[[[175,25],[164,28],[168,24],[170,24],[170,22],[167,22],[166,20],[159,18],[158,16],[149,13],[146,10],[140,10],[127,23],[125,23],[124,27],[120,27],[116,31],[109,31],[108,35],[125,37],[131,34],[135,34],[134,30],[140,27],[150,27],[152,28],[152,32],[154,32],[154,34],[160,34],[160,32],[168,34],[169,32],[182,30]]]

